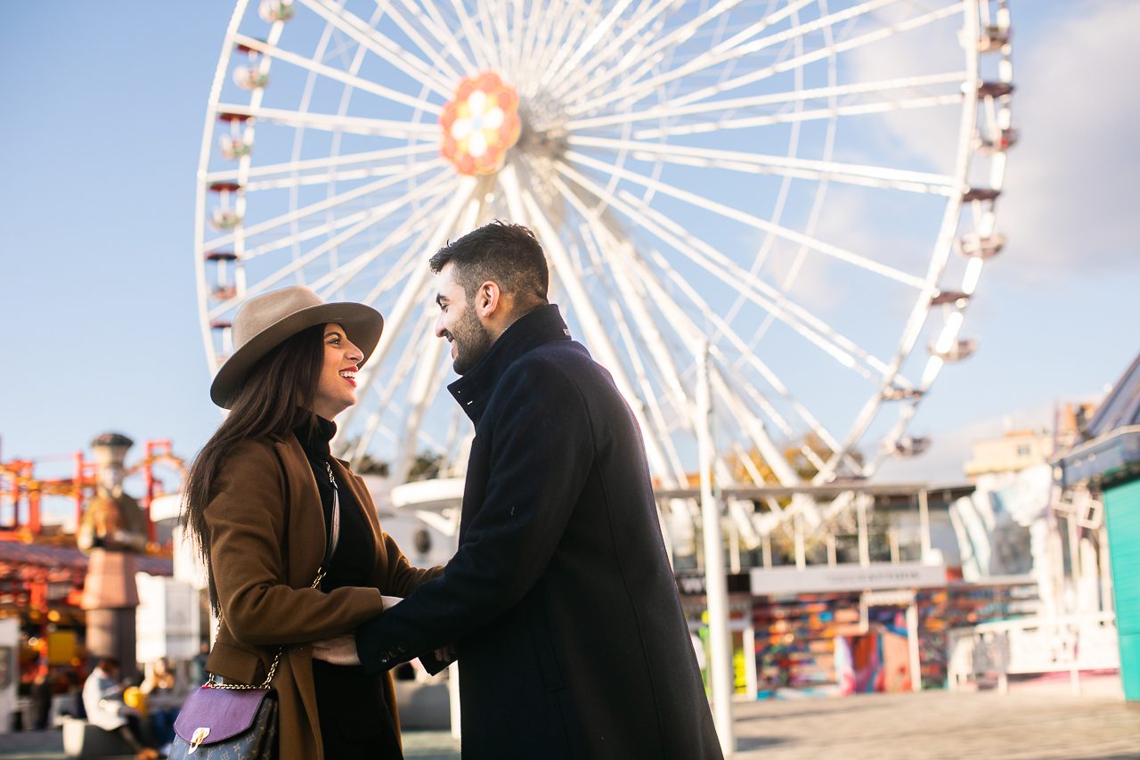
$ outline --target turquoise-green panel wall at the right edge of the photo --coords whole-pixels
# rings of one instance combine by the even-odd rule
[[[1105,492],[1124,698],[1140,702],[1140,480]]]

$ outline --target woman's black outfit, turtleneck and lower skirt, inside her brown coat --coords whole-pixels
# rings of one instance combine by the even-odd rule
[[[325,535],[331,535],[333,520],[333,486],[325,463],[332,454],[328,442],[336,434],[336,423],[321,417],[310,430],[307,425],[293,429],[301,443],[312,476],[317,479],[320,504],[325,511]],[[348,484],[337,484],[341,501],[341,536],[336,553],[328,563],[320,590],[328,592],[345,585],[367,585],[376,560],[372,527]],[[369,504],[370,507],[370,504]],[[317,715],[325,757],[335,760],[399,760],[404,757],[400,741],[384,705],[384,687],[380,676],[365,672],[359,665],[332,665],[312,661],[312,680],[317,692]]]

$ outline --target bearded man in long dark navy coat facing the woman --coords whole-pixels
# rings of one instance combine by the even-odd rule
[[[464,758],[720,758],[640,430],[547,304],[542,246],[495,223],[431,267],[449,390],[475,425],[459,547],[357,631],[360,662],[454,641]]]

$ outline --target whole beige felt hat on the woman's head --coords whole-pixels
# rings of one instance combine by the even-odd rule
[[[210,398],[229,409],[250,369],[282,341],[307,328],[335,322],[368,361],[380,341],[384,317],[364,304],[325,304],[308,288],[282,288],[242,305],[234,316],[234,353],[214,375]]]

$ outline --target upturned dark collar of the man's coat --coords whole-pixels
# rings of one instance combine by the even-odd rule
[[[499,335],[475,366],[447,387],[475,425],[487,409],[499,378],[515,359],[552,340],[570,340],[570,330],[555,304],[527,312]]]

